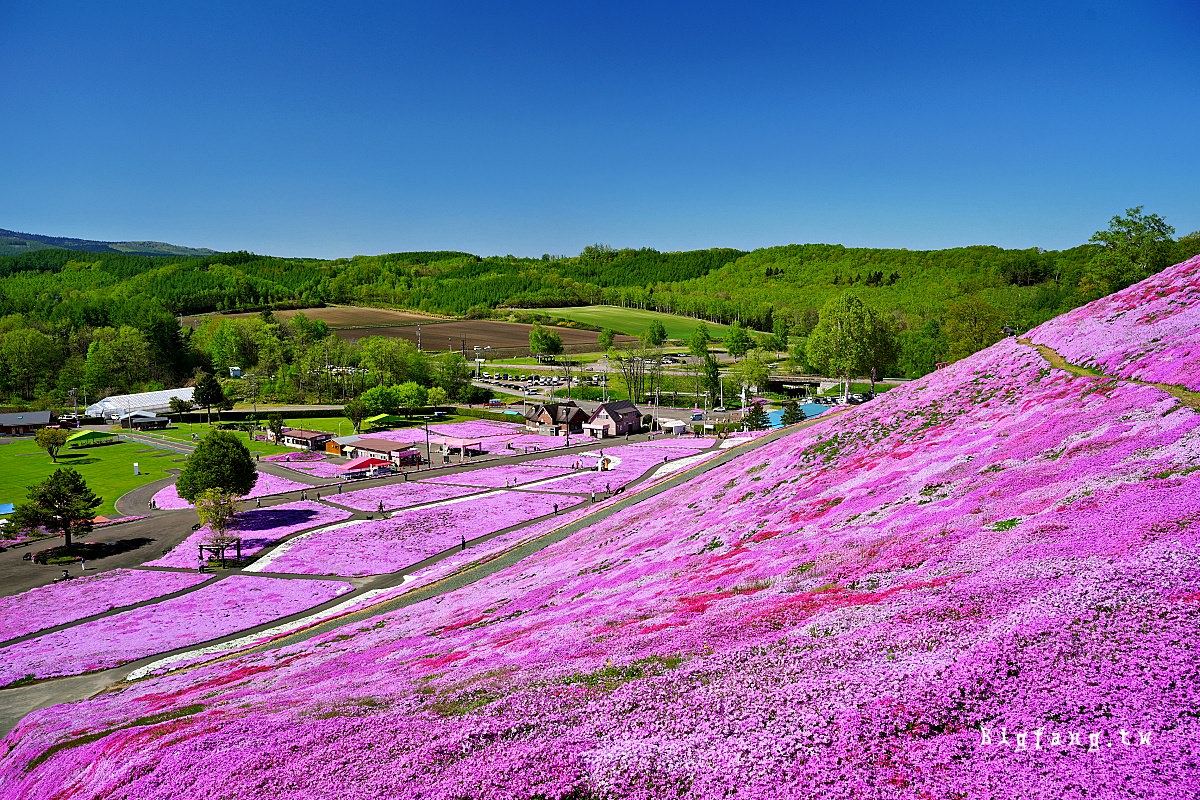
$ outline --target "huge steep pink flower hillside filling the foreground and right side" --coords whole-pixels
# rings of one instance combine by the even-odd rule
[[[1112,302],[1033,341],[1178,374],[1139,326],[1109,359]],[[1006,339],[464,588],[35,711],[0,788],[1195,798],[1198,426]]]

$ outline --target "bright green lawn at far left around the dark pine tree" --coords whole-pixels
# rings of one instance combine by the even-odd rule
[[[60,467],[70,467],[83,475],[92,492],[104,498],[96,510],[104,517],[116,516],[113,504],[130,489],[169,477],[168,469],[182,468],[184,456],[149,445],[120,441],[59,452],[59,463],[52,463],[46,451],[32,438],[20,438],[0,444],[0,503],[24,503],[32,483],[44,480]],[[137,462],[140,475],[133,474]]]

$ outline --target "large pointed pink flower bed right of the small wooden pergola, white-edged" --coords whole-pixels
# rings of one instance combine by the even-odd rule
[[[566,510],[572,498],[493,492],[397,511],[298,536],[256,565],[270,572],[365,576],[396,572],[462,542]]]

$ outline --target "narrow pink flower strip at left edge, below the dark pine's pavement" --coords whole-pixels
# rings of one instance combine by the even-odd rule
[[[0,642],[188,589],[212,576],[110,570],[0,597]]]

